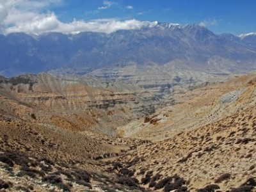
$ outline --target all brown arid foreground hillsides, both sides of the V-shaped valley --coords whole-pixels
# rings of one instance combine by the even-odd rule
[[[255,74],[156,111],[132,85],[44,73],[0,86],[2,191],[255,191]]]

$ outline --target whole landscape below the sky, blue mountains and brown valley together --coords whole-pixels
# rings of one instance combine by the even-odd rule
[[[0,191],[256,191],[255,62],[196,24],[0,35]]]

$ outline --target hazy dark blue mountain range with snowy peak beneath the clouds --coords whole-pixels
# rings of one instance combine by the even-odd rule
[[[59,67],[95,69],[127,63],[164,65],[173,61],[202,69],[216,58],[234,61],[233,68],[239,68],[241,62],[255,67],[255,42],[255,36],[241,39],[230,34],[215,35],[196,24],[157,23],[109,35],[47,33],[33,38],[12,33],[0,35],[0,74],[13,76]]]

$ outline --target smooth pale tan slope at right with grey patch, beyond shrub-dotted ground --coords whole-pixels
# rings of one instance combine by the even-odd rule
[[[144,119],[118,127],[118,132],[124,137],[166,140],[181,131],[197,129],[231,114],[242,113],[256,104],[255,78],[255,75],[241,76],[225,83],[178,90],[164,101],[166,107]]]

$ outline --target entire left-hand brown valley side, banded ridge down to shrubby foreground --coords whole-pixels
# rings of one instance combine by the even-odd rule
[[[148,113],[136,96],[144,90],[93,88],[45,73],[0,85],[1,191],[140,191],[122,185],[99,159],[150,142],[111,137],[116,124]]]

